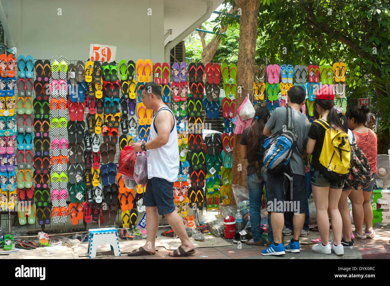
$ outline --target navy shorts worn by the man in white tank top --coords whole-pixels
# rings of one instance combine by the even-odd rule
[[[175,210],[173,182],[161,178],[148,179],[144,198],[145,207],[157,207],[158,214],[170,214]]]

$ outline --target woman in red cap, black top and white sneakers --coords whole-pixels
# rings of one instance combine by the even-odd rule
[[[330,128],[344,131],[339,114],[334,108],[334,96],[316,94],[314,109],[321,115]],[[314,252],[331,254],[332,251],[338,255],[344,254],[344,247],[341,244],[342,220],[339,211],[339,199],[345,180],[330,181],[320,172],[319,157],[324,144],[326,129],[317,121],[314,121],[308,132],[307,153],[313,154],[311,183],[314,196],[314,203],[317,210],[317,225],[321,242],[314,245]],[[329,216],[332,222],[334,240],[332,246],[329,242]]]

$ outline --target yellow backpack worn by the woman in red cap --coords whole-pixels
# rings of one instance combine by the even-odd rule
[[[351,147],[348,134],[330,128],[328,122],[317,119],[319,125],[325,128],[324,144],[319,156],[320,173],[330,181],[344,180],[349,174]]]

